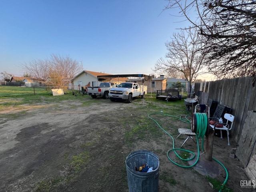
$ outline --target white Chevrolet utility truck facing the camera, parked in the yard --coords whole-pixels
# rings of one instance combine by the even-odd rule
[[[138,85],[138,83],[126,82],[121,83],[116,88],[110,88],[108,97],[111,101],[122,100],[127,103],[132,102],[132,98],[141,96],[145,97],[147,86]]]

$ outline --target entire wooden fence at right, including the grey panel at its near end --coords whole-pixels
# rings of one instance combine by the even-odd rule
[[[196,94],[200,91],[232,108],[235,120],[230,137],[236,142],[236,156],[246,167],[248,177],[256,180],[256,77],[196,83]]]

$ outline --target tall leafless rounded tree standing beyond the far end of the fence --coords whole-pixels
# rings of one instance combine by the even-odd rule
[[[191,88],[191,83],[203,73],[201,70],[204,53],[200,52],[200,42],[200,36],[192,29],[174,34],[172,41],[166,43],[167,60],[160,58],[155,64],[154,71],[160,71],[167,76],[184,76]]]

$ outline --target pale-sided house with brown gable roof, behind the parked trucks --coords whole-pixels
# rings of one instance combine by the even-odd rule
[[[99,86],[101,81],[98,81],[97,76],[100,75],[110,74],[84,70],[70,80],[69,89],[81,90],[83,86]],[[126,80],[127,78],[112,78],[103,82],[114,82],[120,84]]]

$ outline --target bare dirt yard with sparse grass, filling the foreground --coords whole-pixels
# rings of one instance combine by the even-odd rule
[[[148,118],[160,112],[154,110],[158,108],[172,114],[166,102],[137,99],[126,104],[101,98],[92,102],[89,96],[83,100],[42,102],[27,106],[26,111],[0,112],[1,192],[128,192],[125,158],[140,149],[160,158],[159,192],[216,191],[204,175],[168,160],[172,138]],[[186,107],[181,108],[185,113]],[[175,139],[177,129],[190,124],[168,116],[154,118],[179,148],[186,137]],[[148,131],[140,132],[145,127]],[[191,139],[183,148],[197,150]],[[232,138],[228,146],[227,138],[214,137],[213,156],[228,170],[227,186],[234,192],[252,192],[253,188],[240,187],[240,180],[248,178],[239,160],[229,157],[233,148]],[[170,157],[186,165],[173,154]],[[224,182],[225,177],[223,171],[217,179]]]

